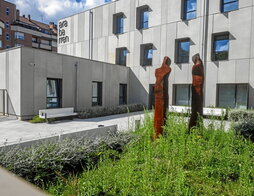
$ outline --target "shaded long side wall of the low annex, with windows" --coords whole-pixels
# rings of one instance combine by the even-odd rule
[[[46,108],[47,78],[62,79],[62,107],[92,107],[92,82],[103,83],[103,107],[119,105],[119,84],[128,85],[127,67],[22,47],[21,115]],[[76,68],[77,65],[77,78]],[[76,82],[77,80],[77,82]],[[77,83],[77,98],[76,98]]]

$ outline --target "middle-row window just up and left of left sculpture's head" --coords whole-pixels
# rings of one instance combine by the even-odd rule
[[[153,44],[143,44],[140,47],[140,64],[152,65],[153,63]]]

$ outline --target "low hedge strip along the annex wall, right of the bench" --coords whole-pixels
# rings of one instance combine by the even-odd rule
[[[141,104],[120,105],[111,107],[93,107],[79,112],[79,118],[94,118],[101,116],[109,116],[115,114],[124,114],[129,112],[144,111],[144,106]]]

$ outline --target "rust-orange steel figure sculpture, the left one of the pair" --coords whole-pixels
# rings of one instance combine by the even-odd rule
[[[155,93],[155,111],[154,111],[154,129],[153,139],[157,139],[162,133],[162,126],[165,125],[166,112],[168,109],[168,77],[171,72],[169,67],[170,58],[164,57],[162,66],[155,70],[156,83]]]

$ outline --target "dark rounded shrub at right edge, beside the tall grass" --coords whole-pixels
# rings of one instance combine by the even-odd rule
[[[254,142],[254,118],[237,124],[235,130]]]

